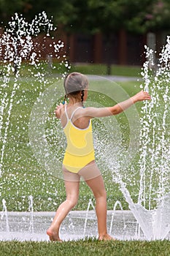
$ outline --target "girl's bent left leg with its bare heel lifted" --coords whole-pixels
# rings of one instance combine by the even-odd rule
[[[69,214],[69,211],[77,204],[79,197],[80,181],[64,181],[66,187],[66,200],[61,203],[56,211],[52,224],[47,230],[50,241],[61,241],[59,229],[63,219]]]

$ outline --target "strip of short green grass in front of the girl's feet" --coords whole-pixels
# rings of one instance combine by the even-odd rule
[[[48,242],[0,242],[0,255],[13,256],[169,256],[169,241],[68,241]]]

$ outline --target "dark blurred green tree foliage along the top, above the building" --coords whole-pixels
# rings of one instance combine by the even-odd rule
[[[0,0],[1,26],[7,25],[15,12],[31,20],[42,11],[53,16],[56,26],[63,26],[67,33],[100,31],[107,35],[125,29],[144,34],[170,29],[169,0]]]

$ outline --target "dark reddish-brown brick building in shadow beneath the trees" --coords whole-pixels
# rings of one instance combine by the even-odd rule
[[[3,31],[0,31],[0,36]],[[148,45],[146,35],[132,35],[125,31],[112,33],[110,42],[102,34],[85,35],[72,34],[67,37],[63,31],[57,30],[54,38],[45,37],[40,34],[34,37],[37,56],[47,59],[50,55],[55,61],[53,42],[63,41],[64,48],[61,56],[66,54],[66,59],[71,63],[94,63],[94,64],[120,64],[120,65],[139,65],[144,62],[144,45]],[[154,35],[155,37],[155,35]],[[157,34],[151,45],[155,45],[155,50],[160,50],[163,43],[162,35]],[[40,53],[40,54],[39,54]],[[3,56],[0,56],[3,59]],[[57,59],[56,59],[57,61]]]

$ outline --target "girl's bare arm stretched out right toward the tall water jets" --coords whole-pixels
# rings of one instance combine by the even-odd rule
[[[84,114],[85,116],[89,116],[90,118],[117,115],[126,110],[127,108],[131,107],[131,105],[133,105],[134,103],[149,99],[151,98],[147,91],[139,91],[139,93],[135,94],[133,97],[126,99],[123,102],[117,103],[117,105],[113,107],[85,108]]]

